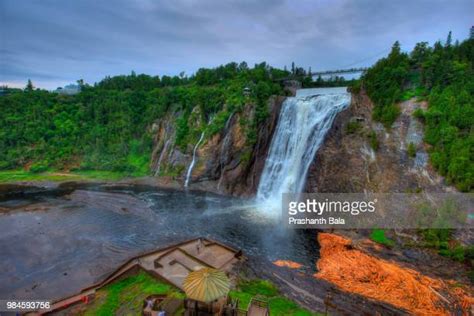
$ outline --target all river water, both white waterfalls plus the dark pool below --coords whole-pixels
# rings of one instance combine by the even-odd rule
[[[0,297],[59,299],[132,256],[196,237],[241,249],[260,270],[282,259],[314,273],[316,233],[286,230],[279,203],[282,193],[303,190],[316,151],[349,103],[344,88],[302,89],[287,98],[252,200],[138,185],[7,189],[8,197],[0,193]]]

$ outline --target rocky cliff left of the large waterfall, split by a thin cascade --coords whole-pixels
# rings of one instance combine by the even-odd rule
[[[204,141],[196,150],[196,163],[189,187],[220,193],[248,196],[256,192],[284,97],[268,102],[270,115],[257,128],[256,142],[249,145],[243,120],[252,121],[254,107],[247,105],[232,114],[224,129]],[[195,144],[185,150],[175,146],[176,118],[173,115],[153,125],[155,132],[151,168],[160,180],[184,186]]]

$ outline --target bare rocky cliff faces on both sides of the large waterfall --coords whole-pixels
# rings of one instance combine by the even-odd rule
[[[232,114],[224,129],[205,136],[196,151],[190,188],[225,194],[255,194],[284,97],[269,100],[270,115],[249,146],[242,120],[251,121],[253,106]],[[390,129],[372,120],[372,102],[361,92],[339,113],[308,172],[306,192],[450,191],[428,163],[421,123],[413,117],[426,102],[400,104],[401,115]],[[176,118],[168,115],[152,127],[155,145],[152,170],[161,181],[183,186],[195,144],[175,146]],[[191,122],[192,124],[192,122]]]

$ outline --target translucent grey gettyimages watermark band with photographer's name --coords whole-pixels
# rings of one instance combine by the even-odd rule
[[[283,194],[289,228],[472,228],[473,195],[315,193]]]

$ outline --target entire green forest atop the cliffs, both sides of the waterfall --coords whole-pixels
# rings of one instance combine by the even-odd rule
[[[299,79],[303,87],[350,85],[364,89],[375,104],[374,119],[387,128],[401,101],[416,97],[429,103],[416,117],[425,124],[432,165],[460,190],[474,186],[474,40],[429,46],[418,43],[410,53],[396,42],[361,80],[342,77],[312,80],[302,68],[278,69],[265,62],[245,62],[194,75],[106,77],[93,86],[78,81],[81,92],[63,95],[35,89],[3,88],[0,96],[0,170],[104,170],[146,175],[152,150],[151,125],[175,113],[176,145],[185,149],[206,128],[218,133],[233,112],[255,108],[243,122],[248,145],[268,116],[267,100],[282,95],[282,78]],[[248,89],[249,95],[243,91]],[[190,126],[193,109],[199,118]],[[194,117],[192,117],[194,119]]]

